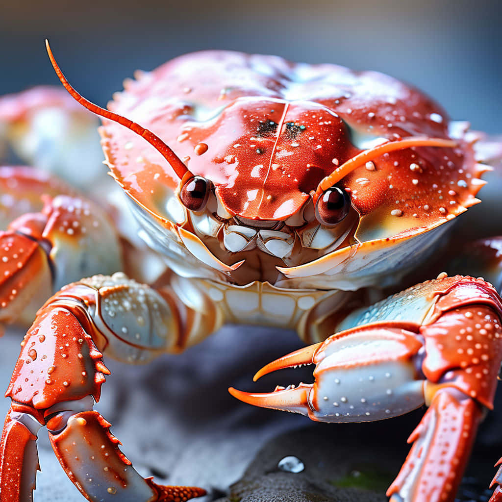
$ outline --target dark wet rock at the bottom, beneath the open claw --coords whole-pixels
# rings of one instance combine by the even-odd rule
[[[217,502],[386,502],[385,492],[403,463],[406,436],[422,410],[370,424],[315,424],[272,439],[243,477]],[[491,427],[488,427],[488,430]],[[487,431],[483,429],[485,436]],[[478,441],[456,502],[487,502],[497,448]],[[278,468],[286,455],[305,466]]]

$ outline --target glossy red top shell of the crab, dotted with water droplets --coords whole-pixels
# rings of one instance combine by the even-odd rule
[[[438,104],[372,71],[207,51],[137,78],[124,83],[126,91],[109,108],[158,135],[190,171],[214,183],[230,213],[246,218],[280,220],[296,213],[323,177],[361,151],[351,141],[354,132],[389,140],[449,138],[448,117]],[[117,181],[158,212],[156,193],[162,185],[176,188],[178,178],[132,131],[103,123],[104,150]],[[399,213],[419,218],[417,226],[435,224],[462,212],[477,192],[471,182],[479,172],[463,142],[458,149],[397,151],[374,164],[375,170],[355,169],[342,184],[362,216],[383,209],[375,214],[380,221],[394,211],[394,219]]]

